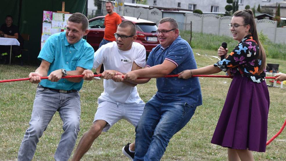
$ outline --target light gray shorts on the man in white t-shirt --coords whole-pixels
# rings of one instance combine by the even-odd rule
[[[135,127],[145,106],[142,100],[139,104],[122,104],[119,102],[109,102],[103,97],[99,97],[97,103],[98,107],[93,122],[96,120],[106,121],[107,124],[103,128],[103,132],[106,132],[121,119],[130,122]]]

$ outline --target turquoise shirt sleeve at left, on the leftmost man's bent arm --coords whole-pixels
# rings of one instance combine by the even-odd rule
[[[47,39],[45,45],[40,51],[38,59],[44,59],[50,63],[53,63],[53,61],[55,60],[55,41],[56,40],[54,39],[53,35]]]

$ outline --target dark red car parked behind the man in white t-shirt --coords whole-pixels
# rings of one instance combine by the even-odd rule
[[[104,37],[104,18],[105,16],[95,17],[88,20],[89,33],[86,35],[86,41],[93,47],[94,51],[98,49],[101,40]],[[159,44],[157,37],[156,23],[135,17],[121,16],[122,21],[132,21],[136,26],[137,39],[136,42],[142,44],[146,49],[148,57],[150,51]]]

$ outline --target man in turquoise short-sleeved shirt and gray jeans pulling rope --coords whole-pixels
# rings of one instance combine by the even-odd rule
[[[82,39],[89,30],[88,19],[81,13],[74,13],[68,19],[66,32],[50,36],[38,59],[41,65],[29,74],[30,82],[39,83],[34,100],[30,127],[22,140],[18,160],[32,160],[39,138],[46,130],[55,112],[63,121],[64,133],[61,135],[55,160],[68,160],[75,146],[79,132],[80,95],[83,79],[62,76],[81,75],[93,66],[93,48]],[[40,77],[48,76],[41,80]]]

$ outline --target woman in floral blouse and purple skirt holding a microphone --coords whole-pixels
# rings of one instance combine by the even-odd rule
[[[225,104],[211,143],[228,148],[229,160],[254,160],[251,151],[265,152],[269,93],[265,78],[266,55],[256,30],[251,10],[236,11],[229,24],[233,39],[239,44],[214,65],[184,70],[178,78],[225,71],[233,75]]]

